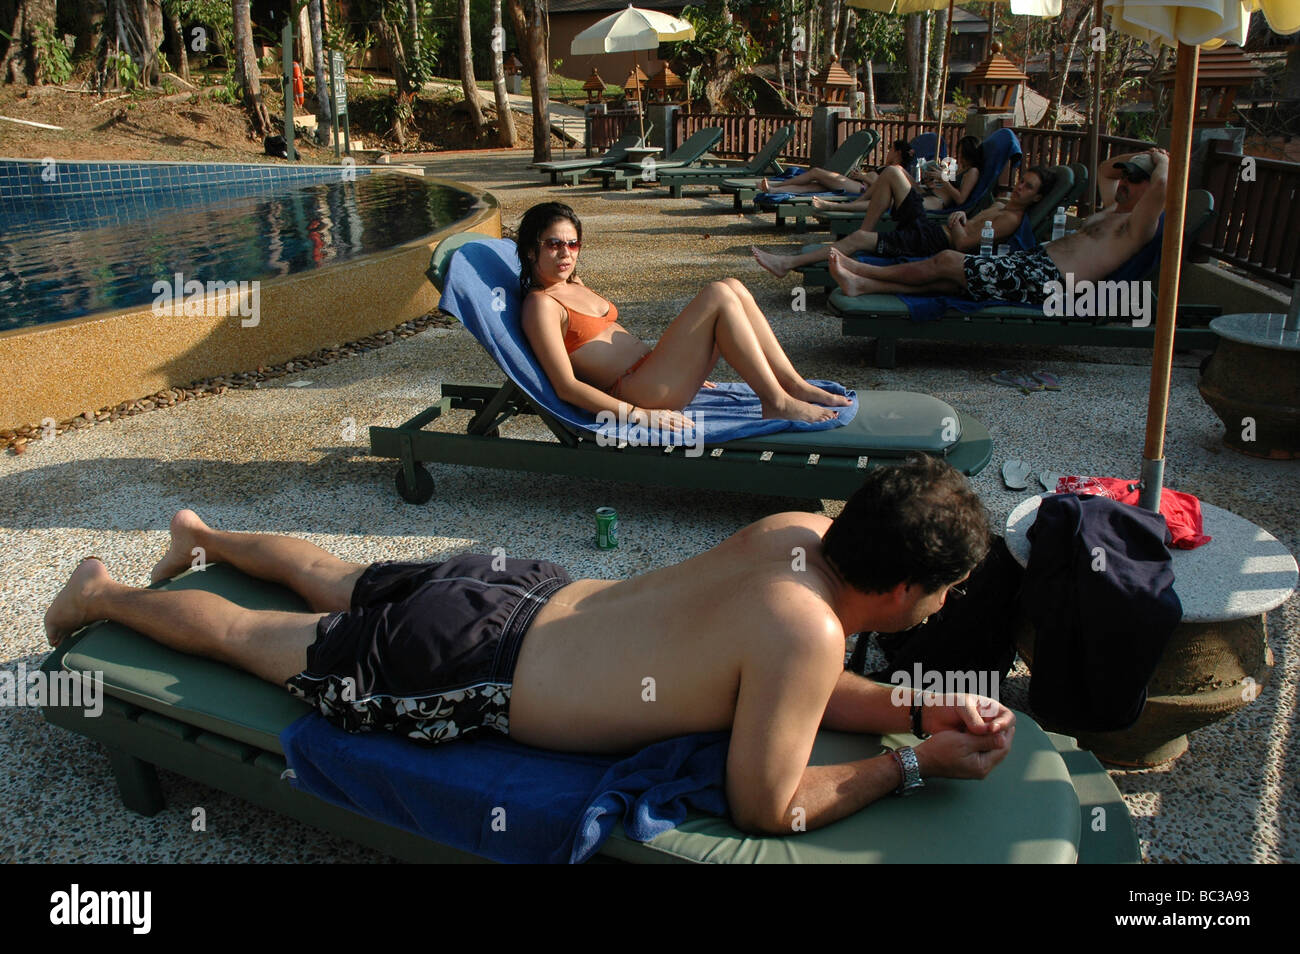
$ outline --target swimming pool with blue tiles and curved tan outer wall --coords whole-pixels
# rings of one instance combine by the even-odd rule
[[[465,230],[495,199],[417,169],[0,159],[0,429],[426,315]]]

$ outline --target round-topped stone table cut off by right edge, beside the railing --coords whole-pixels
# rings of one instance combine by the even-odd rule
[[[1252,458],[1300,456],[1300,329],[1286,315],[1222,315],[1197,385],[1223,421],[1223,443]]]

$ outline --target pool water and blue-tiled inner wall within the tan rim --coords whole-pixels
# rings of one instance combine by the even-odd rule
[[[419,177],[352,172],[0,161],[0,331],[147,307],[177,273],[265,281],[347,261],[476,205]]]

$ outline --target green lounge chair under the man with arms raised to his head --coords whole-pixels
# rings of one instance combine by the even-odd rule
[[[1183,251],[1214,217],[1214,196],[1204,188],[1187,194]],[[1050,221],[1050,220],[1049,220]],[[1158,283],[1160,265],[1144,281]],[[845,335],[876,339],[876,367],[893,368],[900,338],[926,341],[980,341],[1010,344],[1089,344],[1101,347],[1150,347],[1156,341],[1154,318],[1145,328],[1131,322],[1104,324],[1105,318],[1048,318],[1027,308],[992,305],[978,312],[949,309],[937,321],[913,321],[907,305],[897,295],[850,298],[838,289],[831,294],[831,311],[842,316]],[[1180,348],[1213,348],[1218,337],[1204,324],[1219,313],[1218,307],[1179,304],[1174,344]]]

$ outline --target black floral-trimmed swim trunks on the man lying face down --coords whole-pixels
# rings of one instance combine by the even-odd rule
[[[504,556],[372,564],[351,610],[316,625],[307,669],[286,686],[348,732],[422,742],[508,733],[524,634],[568,584],[554,563]]]

